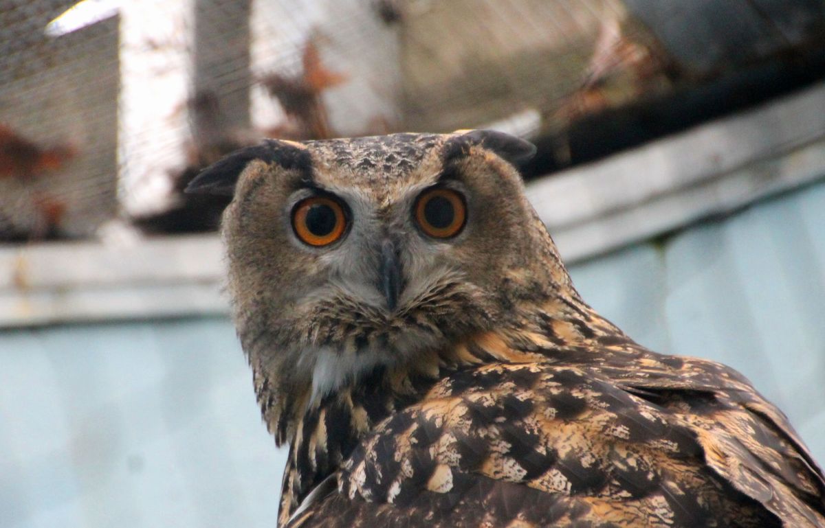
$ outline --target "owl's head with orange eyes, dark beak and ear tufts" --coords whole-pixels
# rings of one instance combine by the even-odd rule
[[[223,235],[247,354],[323,395],[567,287],[515,168],[534,152],[478,130],[269,140],[201,173],[190,192],[233,194]]]

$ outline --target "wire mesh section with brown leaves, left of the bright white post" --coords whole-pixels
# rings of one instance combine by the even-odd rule
[[[0,2],[3,238],[89,236],[115,213],[117,19],[54,40],[67,4]]]

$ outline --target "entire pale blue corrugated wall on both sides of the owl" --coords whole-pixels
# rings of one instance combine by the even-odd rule
[[[639,342],[745,373],[825,460],[825,183],[572,273]],[[223,319],[0,333],[0,526],[274,526],[251,378]]]

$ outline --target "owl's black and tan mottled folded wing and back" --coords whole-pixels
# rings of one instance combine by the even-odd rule
[[[674,379],[695,369],[708,381],[716,364],[696,361],[674,367]],[[741,392],[731,376],[719,385]],[[356,446],[337,492],[304,512],[304,526],[339,526],[320,514],[333,504],[351,515],[347,526],[362,516],[422,516],[432,526],[636,526],[641,516],[657,518],[651,526],[822,526],[821,477],[784,424],[747,409],[741,394],[628,380],[552,362],[456,371]]]

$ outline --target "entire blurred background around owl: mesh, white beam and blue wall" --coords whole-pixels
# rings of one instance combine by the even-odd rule
[[[825,0],[0,0],[0,526],[274,526],[221,291],[261,138],[497,128],[583,297],[825,461]]]

